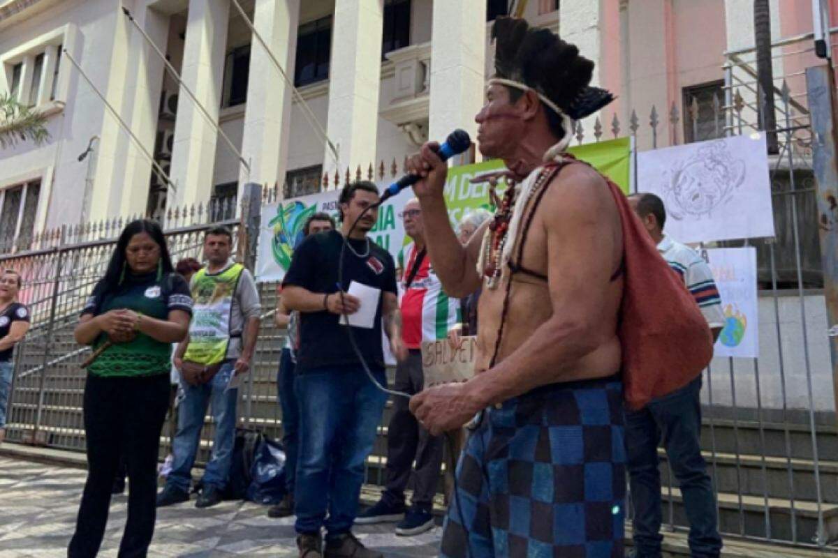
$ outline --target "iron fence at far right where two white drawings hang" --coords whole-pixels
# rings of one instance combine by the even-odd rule
[[[779,44],[778,54],[791,44],[796,43]],[[799,47],[795,55],[807,50]],[[755,75],[743,61],[745,54],[730,56],[726,99],[713,102],[716,128],[725,136],[753,133],[765,110],[762,91],[742,80]],[[838,538],[835,401],[820,290],[824,277],[810,115],[805,92],[794,94],[788,77],[779,76],[779,87],[770,92],[776,95],[773,132],[779,139],[779,153],[769,157],[775,237],[715,243],[757,249],[760,355],[716,358],[704,372],[702,445],[723,534],[825,546]],[[653,113],[650,123],[655,121]],[[672,110],[670,123],[676,122]],[[684,530],[683,495],[669,460],[661,457],[666,522],[670,530]]]

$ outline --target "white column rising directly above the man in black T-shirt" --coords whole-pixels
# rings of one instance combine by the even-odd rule
[[[341,174],[375,162],[383,12],[383,0],[335,3],[326,133],[338,149]],[[323,170],[338,170],[328,146]]]

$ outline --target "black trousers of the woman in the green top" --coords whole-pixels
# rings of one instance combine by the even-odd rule
[[[128,471],[128,518],[119,558],[142,558],[154,535],[160,431],[168,408],[168,371],[158,376],[87,376],[84,417],[87,482],[69,558],[92,558],[105,534],[120,458]]]

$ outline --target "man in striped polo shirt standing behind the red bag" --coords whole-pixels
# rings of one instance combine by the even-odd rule
[[[684,279],[716,340],[724,326],[722,299],[710,267],[695,250],[664,234],[664,202],[654,194],[629,197],[660,255]],[[716,498],[701,457],[701,376],[680,390],[654,400],[639,411],[626,411],[626,453],[634,503],[634,554],[660,557],[661,498],[658,444],[662,443],[680,484],[693,556],[718,556],[722,537],[716,527]]]

